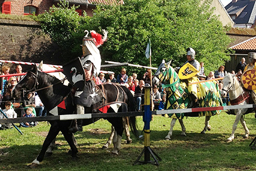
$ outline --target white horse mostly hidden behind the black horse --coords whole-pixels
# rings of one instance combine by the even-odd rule
[[[57,70],[56,67],[53,67],[53,66],[49,66],[48,64],[44,64],[43,61],[41,61],[41,63],[39,64],[38,66],[38,69],[41,70],[41,71],[47,71],[47,70]],[[59,68],[61,69],[61,68]],[[62,72],[51,72],[51,73],[48,73],[52,76],[55,76],[57,79],[60,79],[60,80],[65,80],[64,81],[64,85],[68,85],[69,82],[67,79],[65,79],[65,75],[64,73]],[[130,144],[133,140],[130,138],[130,130],[129,130],[129,117],[123,117],[123,128],[125,128],[125,135],[126,135],[126,143],[127,144]],[[115,133],[115,130],[114,130],[114,126],[111,126],[111,133],[110,133],[110,137],[108,138],[108,141],[107,143],[105,143],[105,145],[102,146],[103,149],[108,149],[108,147],[111,145],[112,141],[113,141],[113,137],[114,137],[114,133]],[[73,137],[74,139],[74,143],[75,145],[77,145],[76,143],[76,139]],[[50,147],[47,149],[47,153],[49,155],[52,154],[52,150],[54,148],[54,141],[53,143],[50,145]],[[47,155],[48,155],[47,154]]]

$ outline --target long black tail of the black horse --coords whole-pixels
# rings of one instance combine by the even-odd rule
[[[121,86],[122,89],[125,91],[127,95],[127,105],[128,105],[128,111],[136,111],[136,101],[133,97],[133,94],[131,94],[130,90],[127,89],[125,86]],[[137,122],[136,122],[136,116],[130,116],[129,117],[129,124],[131,128],[131,132],[133,132],[133,135],[136,138],[139,138],[139,131],[137,129]]]

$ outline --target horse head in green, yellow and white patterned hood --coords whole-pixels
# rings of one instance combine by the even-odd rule
[[[171,67],[171,61],[168,63],[165,63],[165,60],[162,60],[162,63],[158,67],[154,78],[153,78],[153,84],[154,85],[159,85],[160,82],[163,84],[172,84],[172,82],[175,82],[174,79],[178,78],[177,73],[175,70]],[[174,76],[172,76],[174,75]]]

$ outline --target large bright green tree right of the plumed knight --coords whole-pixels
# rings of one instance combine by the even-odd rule
[[[108,41],[100,48],[102,61],[111,60],[149,66],[145,58],[151,39],[152,64],[172,60],[172,66],[186,61],[186,48],[196,51],[206,72],[229,60],[226,48],[231,41],[225,28],[212,14],[211,1],[129,0],[123,5],[101,5],[88,20],[97,32],[108,30]],[[144,70],[144,69],[143,69]],[[128,72],[142,72],[128,67]]]

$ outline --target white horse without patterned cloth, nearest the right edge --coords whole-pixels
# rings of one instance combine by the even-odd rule
[[[245,105],[249,104],[249,90],[243,89],[243,86],[238,82],[237,77],[235,75],[231,75],[231,73],[228,73],[223,80],[223,91],[222,91],[222,96],[226,97],[226,95],[229,93],[229,98],[231,100],[231,105]],[[227,142],[231,142],[234,140],[234,134],[235,134],[235,129],[237,129],[237,124],[240,120],[241,125],[243,125],[243,128],[245,129],[245,135],[243,136],[244,138],[249,137],[249,129],[246,126],[245,120],[243,118],[243,114],[247,114],[252,112],[252,108],[247,109],[247,108],[240,108],[240,109],[235,109],[235,122],[232,127],[232,133],[230,137],[228,138]]]

